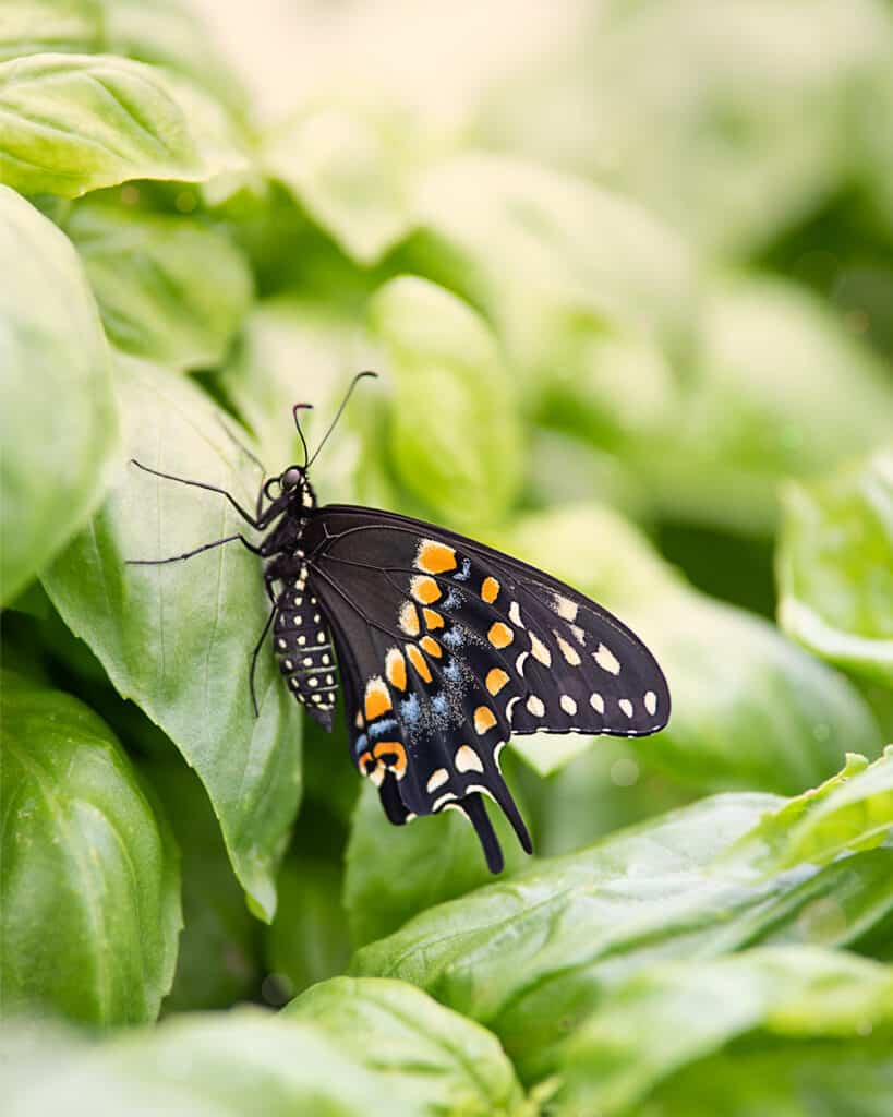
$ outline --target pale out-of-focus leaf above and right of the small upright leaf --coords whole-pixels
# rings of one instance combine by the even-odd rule
[[[419,214],[406,247],[411,270],[480,307],[535,394],[556,380],[594,378],[607,393],[609,421],[616,388],[599,363],[614,357],[604,350],[614,332],[640,346],[659,340],[676,347],[688,336],[694,277],[684,245],[607,190],[505,156],[467,154],[428,175]],[[626,398],[638,400],[651,424],[665,418],[672,382],[650,361],[641,371]]]

